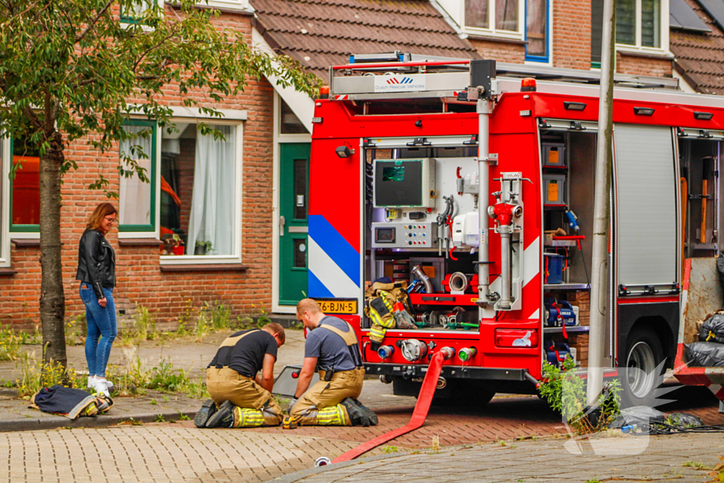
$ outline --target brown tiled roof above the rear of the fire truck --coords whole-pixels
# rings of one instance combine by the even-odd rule
[[[350,54],[395,51],[479,58],[426,0],[251,0],[264,35],[326,79]]]

